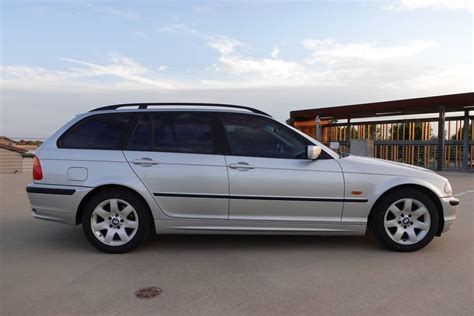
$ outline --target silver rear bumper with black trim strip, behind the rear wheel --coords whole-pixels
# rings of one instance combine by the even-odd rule
[[[26,186],[34,218],[76,225],[76,213],[92,188],[29,184]]]

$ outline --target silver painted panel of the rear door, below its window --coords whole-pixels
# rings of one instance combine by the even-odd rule
[[[152,194],[194,194],[227,197],[227,167],[223,155],[124,151],[130,166]],[[151,159],[156,165],[135,164]],[[174,218],[227,219],[228,198],[154,196],[163,212]]]

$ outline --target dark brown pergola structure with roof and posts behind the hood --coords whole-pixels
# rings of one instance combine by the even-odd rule
[[[383,101],[383,102],[373,102],[373,103],[362,103],[362,104],[351,104],[351,105],[342,105],[342,106],[333,106],[333,107],[320,107],[313,109],[304,109],[292,111],[290,113],[290,119],[294,122],[295,127],[304,126],[305,124],[314,122],[315,135],[316,138],[321,137],[321,124],[320,122],[330,122],[338,119],[347,120],[346,123],[331,124],[328,125],[345,125],[345,139],[344,145],[350,148],[351,141],[351,125],[353,124],[353,119],[363,119],[363,118],[381,118],[389,116],[405,116],[405,115],[424,115],[424,114],[433,114],[436,113],[437,118],[425,118],[425,119],[407,119],[404,121],[414,122],[419,121],[436,121],[438,122],[438,137],[436,140],[436,169],[442,170],[444,161],[445,161],[445,124],[446,124],[446,113],[449,112],[463,112],[463,117],[457,117],[462,121],[462,168],[467,169],[469,165],[472,167],[471,160],[474,157],[471,157],[469,160],[469,154],[471,152],[470,147],[473,146],[472,138],[469,139],[469,123],[473,120],[472,116],[469,116],[469,111],[474,110],[474,92],[469,93],[460,93],[460,94],[450,94],[450,95],[440,95],[440,96],[431,96],[423,98],[414,98],[414,99],[403,99],[403,100],[394,100],[394,101]],[[453,118],[449,118],[453,120]],[[361,124],[377,124],[383,122],[387,123],[398,123],[402,120],[384,120],[377,121],[371,120],[366,122],[357,122],[357,125]],[[461,124],[461,123],[460,123]],[[471,127],[472,128],[472,127]],[[302,129],[304,130],[304,129]],[[471,131],[472,133],[472,131]],[[459,140],[461,141],[461,140]],[[398,142],[403,145],[420,145],[418,143],[410,143],[407,141]],[[432,140],[427,139],[425,143],[421,145],[431,145],[433,144]],[[394,139],[391,142],[388,142],[388,145],[396,145]],[[472,155],[471,155],[472,156]]]

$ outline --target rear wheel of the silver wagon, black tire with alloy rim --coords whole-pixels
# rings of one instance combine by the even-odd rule
[[[122,188],[104,189],[94,195],[82,215],[87,240],[106,253],[135,249],[147,239],[152,223],[146,202]]]

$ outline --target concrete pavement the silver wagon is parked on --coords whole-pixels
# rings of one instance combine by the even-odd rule
[[[107,255],[80,226],[31,217],[29,175],[0,176],[2,315],[472,315],[474,175],[447,175],[455,228],[415,253],[371,237],[156,236]],[[158,286],[153,299],[136,289]]]

